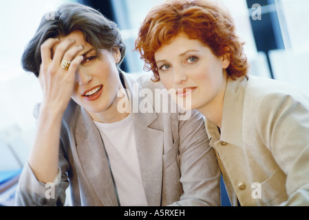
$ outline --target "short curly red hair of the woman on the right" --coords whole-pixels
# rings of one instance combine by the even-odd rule
[[[145,61],[144,69],[151,70],[156,81],[160,76],[154,54],[181,33],[189,39],[198,39],[217,57],[227,54],[230,65],[226,72],[231,78],[247,74],[244,43],[236,35],[233,18],[223,5],[209,0],[172,0],[150,10],[135,43],[135,49]]]

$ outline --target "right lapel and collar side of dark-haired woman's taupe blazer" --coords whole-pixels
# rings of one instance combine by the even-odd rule
[[[142,87],[131,78],[122,74],[125,85],[130,91],[131,107],[134,104],[147,102],[151,104],[150,113],[132,113],[134,121],[134,136],[136,140],[136,151],[140,164],[140,173],[145,189],[148,206],[160,206],[162,196],[162,155],[164,146],[164,132],[162,123],[158,122],[158,114],[153,109],[153,100],[147,97],[139,97]],[[134,85],[134,87],[132,87]],[[136,102],[138,100],[138,102]],[[134,103],[136,102],[136,103]]]

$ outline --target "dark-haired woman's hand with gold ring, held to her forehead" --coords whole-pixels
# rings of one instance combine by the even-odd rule
[[[78,55],[82,50],[83,45],[78,45],[74,39],[47,39],[41,45],[42,104],[55,111],[66,109],[74,89],[76,70],[83,61],[83,56]]]

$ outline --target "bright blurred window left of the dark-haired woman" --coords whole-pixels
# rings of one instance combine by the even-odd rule
[[[67,0],[3,1],[0,7],[0,172],[21,167],[28,158],[41,102],[39,80],[21,68],[21,55],[43,16]]]

